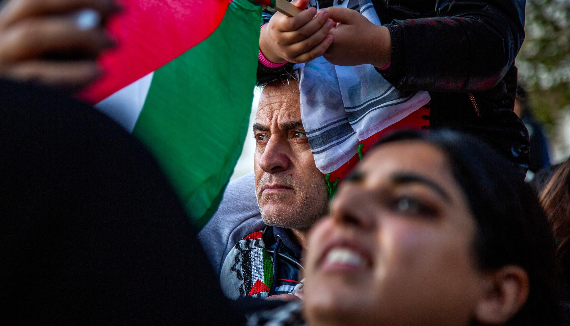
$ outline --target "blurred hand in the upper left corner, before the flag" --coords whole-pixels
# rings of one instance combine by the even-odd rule
[[[103,30],[113,0],[5,0],[0,76],[78,90],[100,74],[97,56],[115,46]]]

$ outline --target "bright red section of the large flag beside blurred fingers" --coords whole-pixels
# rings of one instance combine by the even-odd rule
[[[119,47],[103,55],[104,78],[82,97],[97,103],[196,46],[218,27],[230,2],[122,0],[123,13],[108,25]]]

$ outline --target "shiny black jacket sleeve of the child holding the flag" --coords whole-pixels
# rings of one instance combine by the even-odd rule
[[[434,17],[395,19],[386,25],[392,64],[381,74],[410,91],[492,88],[523,43],[524,6],[525,0],[438,0]]]

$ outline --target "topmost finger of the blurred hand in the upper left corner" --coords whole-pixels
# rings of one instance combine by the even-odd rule
[[[0,26],[10,26],[27,17],[86,8],[98,11],[103,17],[120,10],[115,0],[12,0],[0,11]]]

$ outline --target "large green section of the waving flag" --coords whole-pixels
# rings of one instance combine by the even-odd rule
[[[261,7],[234,0],[219,27],[154,72],[133,130],[200,230],[241,154],[256,80]]]

